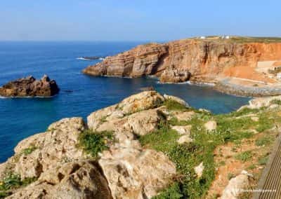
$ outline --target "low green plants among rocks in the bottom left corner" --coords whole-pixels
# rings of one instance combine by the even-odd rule
[[[11,194],[11,190],[20,186],[27,186],[36,181],[36,177],[20,179],[19,174],[8,173],[3,181],[0,181],[0,198],[5,198]]]

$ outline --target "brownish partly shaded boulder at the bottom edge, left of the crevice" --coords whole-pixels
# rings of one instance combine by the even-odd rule
[[[44,172],[38,181],[8,198],[112,198],[96,162],[79,160]]]

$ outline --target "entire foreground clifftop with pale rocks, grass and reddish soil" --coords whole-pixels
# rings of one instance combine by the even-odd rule
[[[0,164],[0,198],[237,198],[233,188],[259,180],[280,104],[213,115],[156,91],[132,95],[23,139]]]

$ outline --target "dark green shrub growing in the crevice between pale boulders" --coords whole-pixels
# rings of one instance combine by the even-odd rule
[[[79,147],[93,158],[98,158],[98,153],[108,149],[108,142],[113,141],[112,132],[93,132],[85,130],[79,135]]]

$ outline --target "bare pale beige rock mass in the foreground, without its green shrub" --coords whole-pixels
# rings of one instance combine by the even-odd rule
[[[15,155],[0,164],[7,174],[36,179],[10,190],[8,198],[152,198],[176,176],[176,165],[160,151],[145,149],[139,136],[153,133],[166,120],[164,97],[155,91],[132,95],[82,118],[64,118],[46,132],[23,139]],[[179,99],[178,99],[179,100]],[[90,130],[89,130],[90,129]],[[185,135],[190,135],[185,127]],[[112,132],[112,142],[98,153],[80,145],[85,132]],[[1,192],[1,191],[0,191]]]

